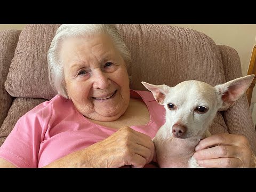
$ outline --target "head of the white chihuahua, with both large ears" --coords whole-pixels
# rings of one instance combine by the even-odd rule
[[[218,110],[226,110],[248,89],[254,75],[211,86],[185,81],[174,87],[141,82],[166,109],[166,123],[175,138],[202,137]]]

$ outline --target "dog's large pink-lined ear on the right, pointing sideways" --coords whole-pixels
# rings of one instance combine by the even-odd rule
[[[222,99],[219,110],[227,110],[235,101],[242,97],[253,81],[254,75],[239,77],[227,83],[216,85],[215,89]]]

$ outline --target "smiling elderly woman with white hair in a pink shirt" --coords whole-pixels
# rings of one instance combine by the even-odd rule
[[[115,26],[61,25],[47,59],[59,94],[19,119],[0,167],[154,167],[151,139],[165,110],[151,92],[129,89],[130,52]],[[213,135],[196,149],[205,167],[255,166],[239,135]]]

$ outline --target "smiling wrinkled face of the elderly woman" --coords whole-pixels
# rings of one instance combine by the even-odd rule
[[[69,38],[62,44],[66,89],[77,110],[96,121],[115,121],[129,105],[125,62],[107,35]]]

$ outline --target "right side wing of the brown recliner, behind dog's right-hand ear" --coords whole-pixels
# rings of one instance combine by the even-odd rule
[[[241,62],[236,50],[225,45],[218,45],[218,47],[226,81],[242,77]],[[256,132],[246,94],[238,99],[232,107],[224,111],[222,115],[228,132],[244,135],[249,140],[253,153],[256,154]]]

